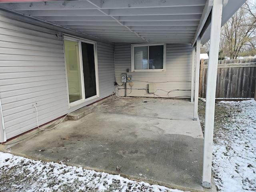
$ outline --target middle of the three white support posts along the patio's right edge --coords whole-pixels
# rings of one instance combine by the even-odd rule
[[[194,121],[198,120],[198,91],[199,91],[199,72],[200,72],[200,45],[201,38],[196,40],[196,75],[195,75],[195,101],[194,101]]]

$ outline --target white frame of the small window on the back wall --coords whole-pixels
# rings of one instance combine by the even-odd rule
[[[134,69],[134,47],[142,47],[142,46],[159,46],[163,45],[163,68],[162,69]],[[149,54],[149,52],[148,52]],[[166,70],[166,44],[165,43],[143,43],[143,44],[131,44],[131,58],[132,58],[132,72],[164,72]]]

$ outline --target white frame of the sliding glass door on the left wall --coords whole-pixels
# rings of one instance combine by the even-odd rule
[[[70,103],[69,102],[69,97],[68,97],[68,103],[69,103],[69,108],[72,108],[74,106],[77,106],[79,104],[82,104],[84,102],[87,102],[89,100],[98,98],[100,89],[99,89],[99,78],[98,78],[98,55],[97,55],[97,43],[91,40],[87,40],[84,38],[79,38],[76,36],[71,36],[68,34],[63,34],[63,45],[64,45],[64,40],[70,40],[70,41],[75,41],[78,42],[79,48],[79,62],[80,62],[80,76],[81,76],[81,83],[82,83],[82,99],[77,100],[75,102]],[[93,44],[94,45],[94,64],[95,64],[95,78],[96,78],[96,95],[92,96],[90,98],[85,98],[85,90],[84,90],[84,74],[83,74],[83,64],[82,64],[82,46],[81,46],[81,42],[85,42],[85,43],[89,43],[89,44]],[[64,48],[64,46],[63,46]],[[64,50],[65,53],[65,50]],[[65,54],[64,54],[64,60],[65,60],[65,70],[67,70],[67,64],[66,64],[66,58],[65,58]],[[66,71],[66,85],[67,85],[67,92],[68,92],[68,75],[67,75],[67,71]]]

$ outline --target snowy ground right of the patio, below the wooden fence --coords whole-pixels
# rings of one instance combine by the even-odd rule
[[[213,173],[220,192],[256,191],[256,101],[220,102],[232,106],[224,137],[213,146]]]

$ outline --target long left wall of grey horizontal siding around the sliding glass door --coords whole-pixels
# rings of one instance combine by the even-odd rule
[[[113,94],[113,44],[2,10],[0,17],[0,100],[7,139],[37,127],[33,105],[40,126]],[[62,33],[97,44],[99,97],[70,109]]]

